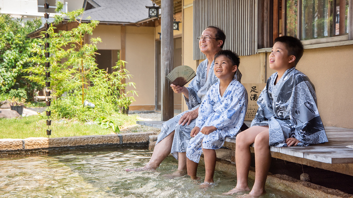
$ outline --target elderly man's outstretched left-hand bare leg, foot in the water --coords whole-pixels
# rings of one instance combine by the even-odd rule
[[[170,150],[172,149],[173,137],[174,131],[154,147],[151,159],[145,166],[141,168],[126,169],[126,171],[155,170],[158,168],[160,163],[162,163],[162,161],[169,155]]]

